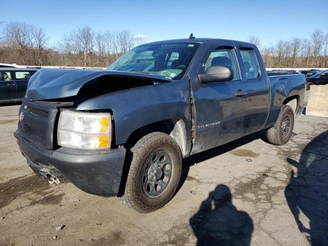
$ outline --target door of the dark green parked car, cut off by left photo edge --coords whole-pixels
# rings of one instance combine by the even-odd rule
[[[16,98],[16,84],[11,79],[10,71],[0,72],[0,101]]]

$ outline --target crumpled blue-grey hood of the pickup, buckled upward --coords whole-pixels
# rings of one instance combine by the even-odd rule
[[[77,95],[81,87],[93,83],[101,76],[124,77],[148,81],[168,82],[159,75],[134,72],[87,70],[87,69],[41,69],[29,80],[25,100],[46,100]],[[110,83],[110,79],[107,80]],[[107,83],[106,81],[106,83]],[[133,81],[131,82],[133,83]]]

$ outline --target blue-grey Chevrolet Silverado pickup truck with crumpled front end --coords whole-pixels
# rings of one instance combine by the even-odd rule
[[[174,194],[182,158],[261,129],[284,145],[304,93],[303,74],[267,77],[252,44],[169,40],[138,46],[107,70],[36,72],[15,137],[50,182],[147,213]]]

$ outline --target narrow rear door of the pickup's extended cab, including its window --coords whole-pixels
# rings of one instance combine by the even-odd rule
[[[263,129],[269,113],[269,81],[262,58],[257,49],[239,46],[242,80],[247,85],[247,113],[243,122],[243,134]],[[260,64],[261,63],[261,64]]]

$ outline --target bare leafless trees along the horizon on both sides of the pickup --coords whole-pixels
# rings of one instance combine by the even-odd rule
[[[279,39],[261,46],[260,37],[249,36],[259,47],[268,68],[327,68],[328,33],[316,29],[309,38]],[[29,66],[108,67],[119,56],[147,42],[130,30],[95,32],[88,25],[61,35],[49,45],[43,28],[22,22],[0,22],[0,63]]]

